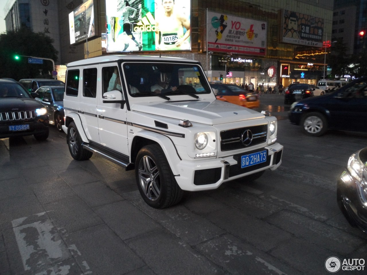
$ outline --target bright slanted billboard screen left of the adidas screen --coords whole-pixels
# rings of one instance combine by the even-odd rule
[[[69,13],[70,44],[94,36],[93,0],[86,1]]]

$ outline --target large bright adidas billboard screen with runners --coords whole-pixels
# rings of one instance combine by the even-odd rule
[[[106,0],[107,52],[188,51],[190,0]]]

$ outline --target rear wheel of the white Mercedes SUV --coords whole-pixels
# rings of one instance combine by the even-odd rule
[[[90,159],[93,155],[91,151],[84,149],[81,145],[82,140],[74,122],[70,122],[69,124],[68,135],[66,135],[66,142],[68,143],[70,155],[75,160],[87,160]]]

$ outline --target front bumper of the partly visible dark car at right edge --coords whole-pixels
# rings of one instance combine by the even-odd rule
[[[337,180],[337,202],[350,225],[367,233],[367,203],[359,195],[360,182],[345,169]]]

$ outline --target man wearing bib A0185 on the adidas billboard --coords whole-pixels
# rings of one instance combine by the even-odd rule
[[[164,12],[156,17],[156,50],[188,48],[184,41],[190,37],[190,19],[181,12],[175,12],[174,4],[175,0],[162,0]]]

